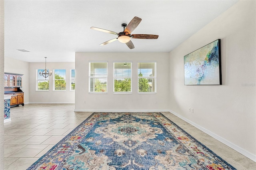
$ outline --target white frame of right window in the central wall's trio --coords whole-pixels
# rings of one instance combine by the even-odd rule
[[[142,76],[142,77],[139,77],[139,63],[154,63],[154,73],[155,73],[155,76]],[[157,85],[157,72],[156,72],[156,69],[157,69],[157,62],[156,61],[138,61],[137,63],[138,67],[137,67],[137,77],[138,77],[138,83],[137,83],[137,89],[138,89],[138,94],[156,94],[156,85]],[[139,91],[139,79],[140,78],[146,78],[146,79],[154,79],[154,92],[141,92]]]

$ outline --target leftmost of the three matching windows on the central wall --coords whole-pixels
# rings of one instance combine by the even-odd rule
[[[106,93],[108,62],[89,62],[89,93]]]

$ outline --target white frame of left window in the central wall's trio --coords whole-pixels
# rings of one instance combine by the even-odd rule
[[[91,76],[91,63],[106,63],[106,76],[95,77]],[[91,91],[91,79],[106,79],[106,91]],[[88,93],[89,94],[107,94],[108,93],[108,61],[88,61]]]

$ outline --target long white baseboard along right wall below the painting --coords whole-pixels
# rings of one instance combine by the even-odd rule
[[[222,138],[221,136],[218,136],[217,134],[211,132],[210,130],[207,130],[204,127],[201,127],[200,125],[197,125],[196,123],[186,119],[185,117],[179,115],[178,113],[175,113],[172,110],[169,110],[170,113],[172,113],[173,115],[179,117],[180,119],[186,121],[187,123],[189,123],[190,125],[202,130],[203,132],[205,132],[206,134],[212,136],[213,138],[219,140],[220,142],[226,144],[227,146],[229,146],[230,148],[236,150],[237,152],[239,152],[240,154],[243,154],[244,156],[246,156],[247,158],[253,160],[254,162],[256,162],[256,155],[244,150],[243,148],[237,146],[236,144],[233,144],[232,142],[226,140],[225,138]]]

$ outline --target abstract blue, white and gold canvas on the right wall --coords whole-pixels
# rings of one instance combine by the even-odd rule
[[[184,85],[221,85],[220,39],[184,56]]]

